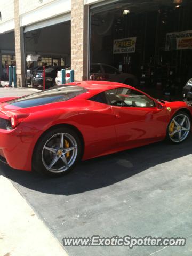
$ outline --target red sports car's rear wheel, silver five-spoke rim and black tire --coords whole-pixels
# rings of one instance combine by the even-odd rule
[[[57,127],[38,141],[33,154],[33,169],[60,176],[73,169],[81,156],[82,145],[77,133],[69,127]]]

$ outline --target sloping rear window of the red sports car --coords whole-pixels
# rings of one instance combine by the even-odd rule
[[[7,103],[20,108],[29,108],[54,102],[67,101],[88,90],[81,86],[58,86],[37,92]]]

